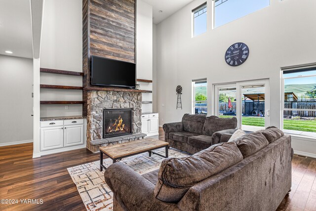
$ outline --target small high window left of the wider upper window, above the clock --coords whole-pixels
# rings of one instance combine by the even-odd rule
[[[206,3],[193,10],[193,36],[203,34],[207,30]]]

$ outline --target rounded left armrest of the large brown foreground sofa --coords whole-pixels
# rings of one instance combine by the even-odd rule
[[[156,199],[155,185],[122,163],[112,164],[105,170],[104,178],[115,199],[129,211],[178,210],[177,204]]]

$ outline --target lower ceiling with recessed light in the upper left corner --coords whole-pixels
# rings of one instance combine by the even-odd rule
[[[0,54],[33,58],[30,0],[0,0]]]

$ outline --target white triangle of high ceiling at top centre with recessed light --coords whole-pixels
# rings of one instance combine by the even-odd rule
[[[153,22],[160,23],[193,0],[143,0],[153,6]],[[162,10],[160,13],[159,10]]]

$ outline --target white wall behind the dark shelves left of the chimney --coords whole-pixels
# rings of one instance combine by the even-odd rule
[[[45,0],[40,67],[82,72],[82,1]],[[82,77],[40,74],[40,84],[82,86]],[[81,90],[41,89],[40,100],[82,100]],[[41,105],[41,117],[82,115],[82,105]]]

